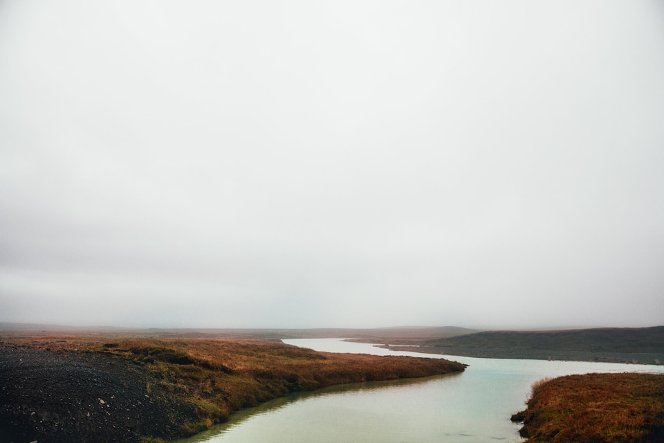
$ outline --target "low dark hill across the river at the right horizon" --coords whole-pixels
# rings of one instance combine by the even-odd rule
[[[486,331],[427,340],[430,347],[664,354],[664,326],[566,331]]]

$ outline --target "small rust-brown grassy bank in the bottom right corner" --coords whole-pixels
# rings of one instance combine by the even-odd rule
[[[528,443],[664,442],[664,374],[584,374],[533,385],[513,415]]]

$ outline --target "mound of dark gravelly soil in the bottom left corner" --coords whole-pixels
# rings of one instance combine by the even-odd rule
[[[139,442],[195,421],[192,406],[136,363],[0,345],[0,442]]]

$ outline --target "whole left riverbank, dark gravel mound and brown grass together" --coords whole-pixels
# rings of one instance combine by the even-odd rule
[[[0,440],[155,442],[291,392],[463,371],[439,359],[315,352],[279,341],[4,334]]]

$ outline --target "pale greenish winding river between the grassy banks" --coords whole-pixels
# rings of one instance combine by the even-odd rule
[[[338,338],[284,340],[326,352],[394,352]],[[482,443],[521,442],[510,415],[522,410],[531,384],[588,372],[664,372],[664,366],[578,361],[474,359],[465,372],[425,379],[353,383],[302,392],[233,414],[178,443]]]

